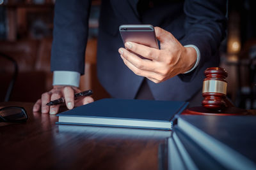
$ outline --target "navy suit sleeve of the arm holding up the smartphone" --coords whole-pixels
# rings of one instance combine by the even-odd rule
[[[225,37],[227,27],[227,1],[223,0],[188,0],[184,3],[186,14],[186,36],[180,41],[182,45],[195,45],[200,50],[200,63],[191,73],[180,74],[184,81],[195,77],[205,62],[216,56],[221,40]]]

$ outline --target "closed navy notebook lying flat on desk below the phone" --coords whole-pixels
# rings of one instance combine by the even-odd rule
[[[56,124],[171,130],[175,115],[187,106],[183,101],[101,99],[59,113]]]

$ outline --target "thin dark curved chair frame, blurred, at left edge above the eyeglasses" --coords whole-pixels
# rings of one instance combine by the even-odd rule
[[[6,95],[4,97],[4,101],[9,101],[10,96],[12,94],[12,89],[13,89],[14,83],[17,79],[17,74],[18,74],[18,71],[19,71],[19,67],[18,67],[17,62],[12,57],[10,57],[10,56],[8,56],[4,53],[1,53],[1,52],[0,52],[0,57],[4,57],[5,59],[10,60],[13,63],[13,66],[14,66],[14,73],[12,75],[12,80],[9,83]]]

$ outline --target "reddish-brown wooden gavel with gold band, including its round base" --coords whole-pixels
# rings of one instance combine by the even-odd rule
[[[248,112],[236,108],[227,100],[227,71],[221,67],[209,67],[205,70],[202,106],[188,108],[183,114],[192,115],[247,115]]]

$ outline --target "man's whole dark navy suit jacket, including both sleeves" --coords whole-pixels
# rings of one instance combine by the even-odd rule
[[[118,27],[151,24],[171,32],[182,45],[195,45],[200,50],[200,63],[191,73],[162,83],[147,80],[155,99],[189,101],[202,87],[204,70],[220,62],[218,47],[225,36],[226,3],[223,0],[153,1],[147,8],[145,1],[138,4],[138,0],[102,0],[97,48],[100,83],[113,97],[136,96],[143,77],[134,74],[122,61],[118,48],[124,45]],[[90,1],[56,1],[52,71],[83,74],[89,11]]]

